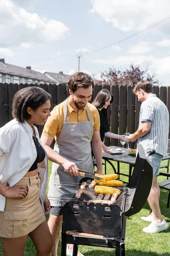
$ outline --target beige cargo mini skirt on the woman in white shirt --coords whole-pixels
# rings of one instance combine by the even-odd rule
[[[26,236],[38,227],[45,215],[40,204],[40,178],[23,177],[16,185],[28,187],[23,199],[6,198],[5,211],[0,212],[0,236],[17,238]]]

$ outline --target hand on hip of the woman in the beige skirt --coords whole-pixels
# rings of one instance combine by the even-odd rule
[[[6,198],[18,198],[23,199],[28,194],[28,188],[23,185],[7,187],[2,194]]]

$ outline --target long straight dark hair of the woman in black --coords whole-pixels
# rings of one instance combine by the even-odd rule
[[[96,108],[102,108],[105,105],[105,102],[111,98],[111,102],[110,104],[113,102],[113,95],[111,94],[111,92],[107,89],[103,89],[101,90],[96,98],[94,99],[94,101],[92,102],[92,104],[96,107]]]

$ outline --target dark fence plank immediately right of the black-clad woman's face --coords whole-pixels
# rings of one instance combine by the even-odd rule
[[[118,134],[119,129],[119,86],[111,86],[111,93],[113,94],[113,102],[111,104],[111,132]],[[117,139],[111,139],[111,145],[118,146]]]

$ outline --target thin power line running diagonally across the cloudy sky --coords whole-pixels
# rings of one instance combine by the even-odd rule
[[[141,31],[138,32],[138,33],[135,33],[135,34],[133,34],[133,35],[130,35],[130,36],[126,37],[126,38],[123,38],[123,39],[121,39],[121,40],[119,40],[119,41],[117,41],[117,42],[115,42],[115,43],[113,43],[113,44],[109,44],[109,45],[107,45],[107,46],[105,46],[105,47],[101,47],[101,48],[99,48],[99,49],[94,49],[94,50],[92,50],[91,52],[98,52],[98,51],[100,51],[100,50],[103,50],[103,49],[106,49],[106,48],[108,48],[108,47],[111,47],[112,45],[119,44],[119,43],[121,43],[121,42],[123,42],[123,41],[125,41],[125,40],[127,40],[127,39],[129,39],[129,38],[132,38],[132,37],[134,37],[134,36],[136,36],[136,35],[139,35],[139,34],[143,33],[144,31],[146,31],[146,30],[148,30],[148,29],[153,28],[154,26],[159,25],[160,23],[164,22],[165,20],[168,20],[169,18],[170,18],[170,15],[167,15],[166,17],[164,17],[164,18],[162,18],[161,20],[159,20],[159,21],[157,21],[157,22],[151,24],[151,25],[148,26],[146,29],[143,29],[143,30],[141,30]],[[89,54],[89,53],[90,53],[90,52],[88,52],[88,53],[86,53],[86,54]]]

